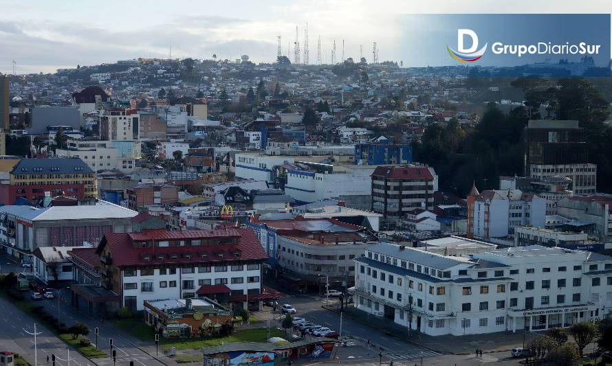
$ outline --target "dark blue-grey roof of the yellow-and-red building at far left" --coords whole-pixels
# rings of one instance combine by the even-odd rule
[[[11,174],[81,174],[94,170],[80,158],[21,159]]]

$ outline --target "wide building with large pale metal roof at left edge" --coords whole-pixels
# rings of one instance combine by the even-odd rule
[[[8,255],[31,262],[39,247],[97,244],[105,233],[132,231],[138,212],[105,201],[95,205],[0,207],[0,246]]]

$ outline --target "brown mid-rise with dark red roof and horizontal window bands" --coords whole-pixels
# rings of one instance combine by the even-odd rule
[[[413,209],[433,211],[438,176],[422,165],[379,166],[371,176],[372,211],[400,218]]]

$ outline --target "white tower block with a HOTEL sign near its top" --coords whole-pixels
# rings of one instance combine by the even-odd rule
[[[135,109],[105,111],[100,116],[100,139],[132,141],[140,139],[140,114]]]

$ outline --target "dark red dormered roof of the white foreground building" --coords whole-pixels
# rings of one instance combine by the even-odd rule
[[[228,244],[206,244],[195,247],[134,247],[133,240],[192,239],[192,238],[238,238]],[[113,264],[116,266],[144,266],[148,264],[199,264],[266,260],[267,255],[252,229],[232,230],[145,230],[141,233],[108,233],[102,238],[98,253],[108,245]]]

